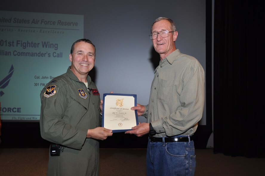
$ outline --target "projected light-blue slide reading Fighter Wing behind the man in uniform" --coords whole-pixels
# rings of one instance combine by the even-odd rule
[[[67,71],[83,29],[83,15],[0,11],[1,120],[39,120],[40,92]]]

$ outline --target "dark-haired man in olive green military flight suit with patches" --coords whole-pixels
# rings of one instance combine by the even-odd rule
[[[88,39],[73,43],[67,72],[41,92],[41,137],[61,146],[49,156],[47,175],[99,175],[99,142],[112,136],[101,126],[102,103],[88,75],[95,64],[95,45]]]

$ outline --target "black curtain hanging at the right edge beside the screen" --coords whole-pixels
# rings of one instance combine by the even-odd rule
[[[265,157],[264,10],[264,1],[215,0],[215,153]]]

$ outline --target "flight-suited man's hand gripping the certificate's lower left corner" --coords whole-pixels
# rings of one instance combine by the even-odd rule
[[[106,129],[104,127],[97,127],[94,129],[87,130],[87,138],[104,140],[107,139],[108,136],[112,136],[112,130]]]

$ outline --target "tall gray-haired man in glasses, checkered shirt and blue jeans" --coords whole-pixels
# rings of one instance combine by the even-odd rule
[[[137,104],[138,116],[147,118],[125,133],[149,133],[147,176],[194,175],[196,160],[192,140],[204,109],[204,70],[198,60],[175,47],[178,32],[170,18],[159,17],[150,39],[160,55],[149,104]]]

